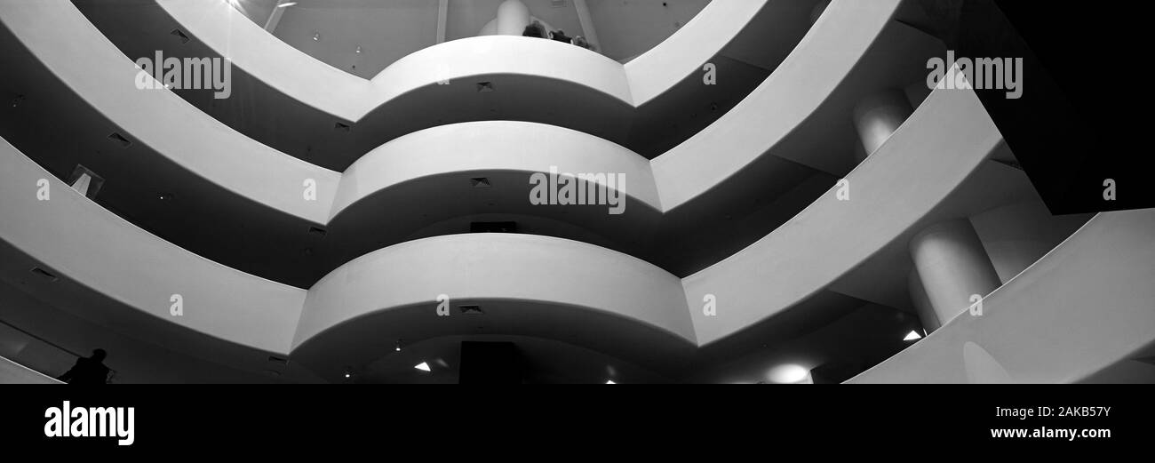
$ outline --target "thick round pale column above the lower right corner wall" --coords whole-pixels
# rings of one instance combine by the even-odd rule
[[[973,294],[986,297],[1000,285],[983,242],[966,218],[916,234],[910,239],[910,256],[940,324],[968,311]]]

